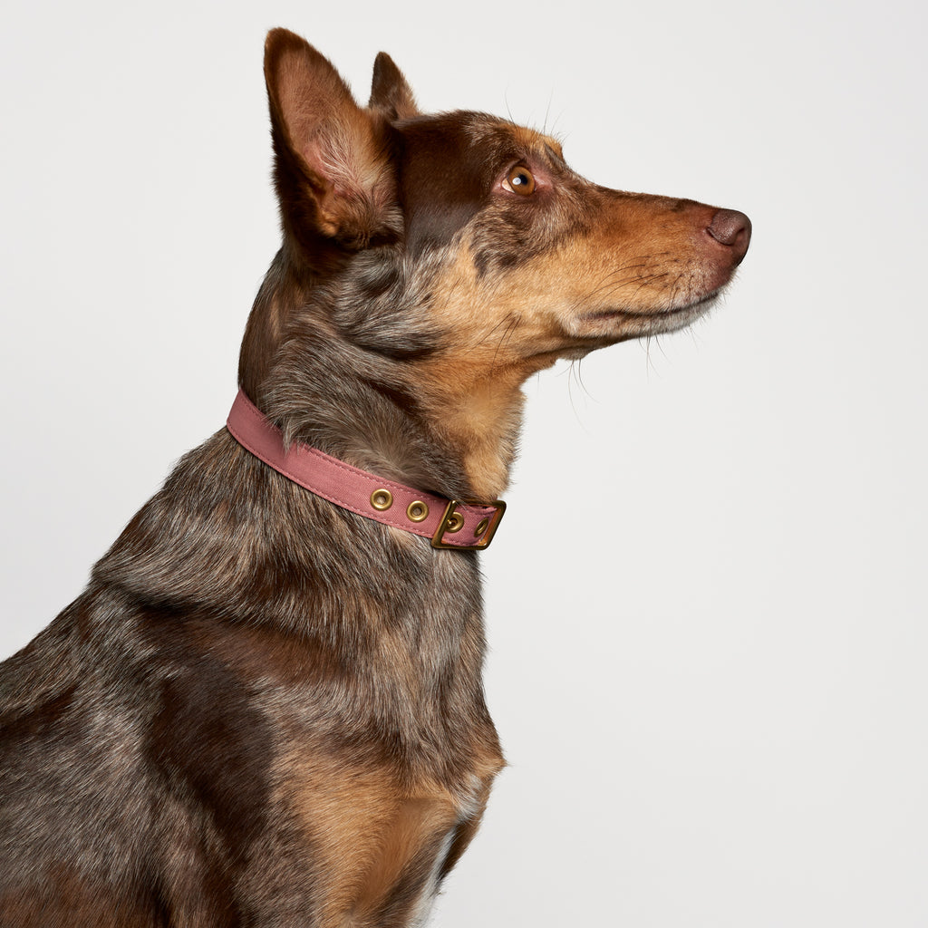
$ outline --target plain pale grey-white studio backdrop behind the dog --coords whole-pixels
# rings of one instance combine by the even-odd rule
[[[383,48],[424,109],[754,221],[691,333],[527,385],[483,557],[510,767],[435,923],[928,923],[924,8],[7,0],[3,652],[225,421],[264,32],[362,99]]]

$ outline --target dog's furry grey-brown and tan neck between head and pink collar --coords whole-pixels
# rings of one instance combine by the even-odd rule
[[[470,367],[389,275],[366,293],[334,277],[301,273],[278,254],[242,343],[243,391],[288,445],[448,498],[502,496],[525,372]]]

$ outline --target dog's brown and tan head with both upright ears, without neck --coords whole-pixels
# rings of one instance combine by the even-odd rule
[[[514,361],[678,329],[747,251],[742,213],[591,184],[555,139],[506,120],[419,113],[383,53],[367,108],[292,32],[268,36],[265,76],[295,251],[325,271],[393,248],[428,273],[436,320],[464,329],[454,342],[505,319]]]

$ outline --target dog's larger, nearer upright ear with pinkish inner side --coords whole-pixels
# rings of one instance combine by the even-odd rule
[[[264,79],[285,230],[364,248],[397,231],[386,126],[359,107],[329,60],[286,29],[267,34]]]

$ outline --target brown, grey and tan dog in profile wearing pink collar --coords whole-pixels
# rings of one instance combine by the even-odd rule
[[[503,766],[478,561],[521,386],[687,326],[746,216],[559,143],[359,106],[269,33],[282,245],[227,426],[0,676],[4,928],[419,925]]]

